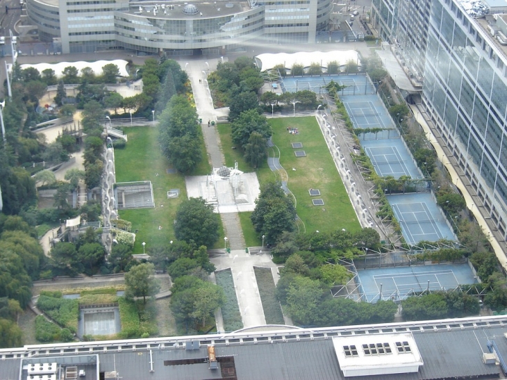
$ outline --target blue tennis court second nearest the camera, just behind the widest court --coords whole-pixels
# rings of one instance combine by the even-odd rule
[[[387,198],[408,243],[456,240],[430,193],[388,195]]]

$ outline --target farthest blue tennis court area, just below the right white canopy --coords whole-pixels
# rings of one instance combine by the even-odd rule
[[[283,92],[298,92],[310,90],[316,94],[324,94],[323,87],[331,81],[339,85],[345,85],[340,95],[365,95],[374,94],[374,85],[364,74],[357,75],[322,75],[322,76],[285,76],[281,79],[280,87]]]

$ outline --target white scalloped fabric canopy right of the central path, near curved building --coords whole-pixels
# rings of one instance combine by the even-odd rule
[[[272,69],[276,65],[283,65],[286,69],[292,69],[294,63],[309,67],[312,63],[319,63],[322,67],[333,60],[343,66],[349,60],[354,60],[360,65],[359,53],[355,50],[335,51],[299,51],[298,53],[265,53],[259,54],[256,58],[257,66],[261,72]]]

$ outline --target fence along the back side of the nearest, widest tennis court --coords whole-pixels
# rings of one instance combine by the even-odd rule
[[[466,263],[467,258],[458,258],[454,261],[440,261],[443,263]],[[431,265],[433,261],[424,260],[420,255],[404,252],[388,252],[382,254],[367,254],[354,258],[354,267],[357,270],[388,268],[388,267],[410,267],[415,265]]]

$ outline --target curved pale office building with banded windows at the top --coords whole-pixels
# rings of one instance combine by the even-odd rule
[[[133,49],[169,55],[220,53],[246,41],[315,42],[326,31],[331,0],[128,1],[26,0],[41,40],[63,53]]]

